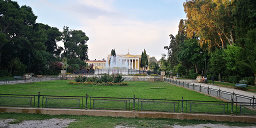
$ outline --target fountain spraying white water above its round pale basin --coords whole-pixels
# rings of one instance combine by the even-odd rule
[[[103,69],[95,69],[94,74],[102,74],[102,73],[121,73],[121,74],[136,74],[139,73],[139,70],[132,69],[131,62],[126,57],[122,56],[113,56],[109,57],[109,60],[105,63],[105,68]]]

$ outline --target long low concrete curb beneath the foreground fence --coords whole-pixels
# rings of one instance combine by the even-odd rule
[[[256,122],[256,116],[151,112],[151,111],[0,107],[0,113],[4,113],[4,112],[40,113],[40,114],[53,114],[53,115],[70,114],[70,115],[93,115],[93,116],[111,116],[111,117],[199,119],[199,120],[251,122],[251,123]]]

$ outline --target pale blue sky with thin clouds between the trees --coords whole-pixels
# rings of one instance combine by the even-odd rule
[[[16,0],[29,5],[36,22],[62,31],[64,25],[89,37],[90,60],[101,60],[115,48],[116,54],[167,53],[169,34],[175,35],[185,19],[185,0]],[[63,46],[62,42],[58,45]]]

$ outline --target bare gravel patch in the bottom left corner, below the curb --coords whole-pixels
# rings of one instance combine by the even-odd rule
[[[0,119],[0,128],[59,128],[59,127],[67,127],[70,122],[74,122],[74,119],[59,119],[59,118],[51,118],[44,120],[25,120],[21,123],[9,124],[8,122],[14,121],[15,119]]]

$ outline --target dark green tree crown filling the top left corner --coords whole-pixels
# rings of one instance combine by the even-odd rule
[[[0,0],[0,63],[4,45],[23,36],[35,24],[36,18],[31,7],[19,7],[16,1]]]

